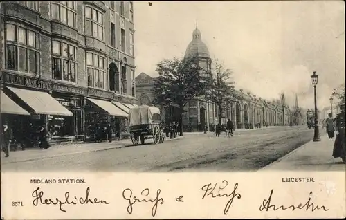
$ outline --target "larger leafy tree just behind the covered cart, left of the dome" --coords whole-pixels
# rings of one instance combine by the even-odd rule
[[[164,59],[156,65],[158,77],[154,80],[154,103],[179,105],[180,135],[183,135],[185,104],[203,95],[206,80],[203,68],[196,64],[196,57]]]

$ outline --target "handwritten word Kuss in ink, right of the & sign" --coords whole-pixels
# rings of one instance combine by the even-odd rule
[[[237,199],[242,198],[242,195],[239,193],[236,193],[235,191],[237,190],[238,187],[238,183],[235,183],[234,187],[233,187],[233,191],[230,193],[224,193],[221,194],[220,190],[225,190],[226,187],[228,186],[228,181],[222,181],[222,186],[218,186],[219,183],[215,183],[215,185],[212,187],[212,183],[209,183],[207,185],[203,185],[203,187],[201,188],[204,191],[203,197],[202,199],[206,198],[206,196],[211,196],[212,198],[217,198],[217,197],[223,197],[226,196],[228,198],[230,198],[230,200],[228,200],[228,202],[226,203],[226,206],[224,208],[224,214],[228,213],[228,210],[230,209],[230,205],[232,205],[233,200],[235,199],[235,197],[237,197]]]

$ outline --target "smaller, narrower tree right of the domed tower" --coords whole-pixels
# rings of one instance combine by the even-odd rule
[[[206,99],[214,102],[219,109],[219,125],[221,125],[222,116],[224,114],[224,105],[234,100],[237,96],[232,85],[235,84],[230,81],[230,77],[233,74],[228,68],[224,68],[224,65],[219,64],[218,60],[215,60],[214,67],[208,73],[208,79],[206,83]]]

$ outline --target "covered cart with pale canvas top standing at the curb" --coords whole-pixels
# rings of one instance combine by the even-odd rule
[[[129,133],[132,143],[144,145],[145,139],[153,139],[154,143],[165,140],[164,126],[161,122],[160,109],[142,105],[129,109]]]

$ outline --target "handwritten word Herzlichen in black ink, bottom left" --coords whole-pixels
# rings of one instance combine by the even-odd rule
[[[40,190],[39,187],[36,188],[36,190],[33,191],[33,193],[31,194],[34,198],[33,200],[33,205],[37,206],[39,204],[42,205],[59,205],[60,211],[62,212],[66,212],[66,210],[64,210],[62,208],[62,205],[77,205],[78,203],[81,205],[84,204],[95,204],[95,203],[102,203],[102,204],[110,204],[107,201],[103,201],[103,200],[98,200],[97,198],[94,199],[89,199],[89,193],[90,193],[90,188],[87,187],[86,188],[86,195],[84,197],[80,197],[79,199],[77,198],[77,196],[73,196],[72,199],[70,199],[70,192],[65,192],[65,198],[60,200],[58,198],[55,199],[43,199],[44,196],[44,192],[42,190]]]

